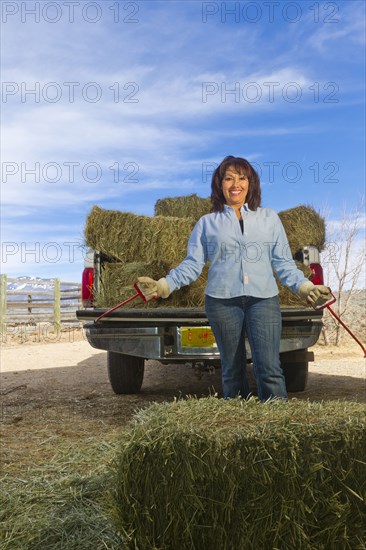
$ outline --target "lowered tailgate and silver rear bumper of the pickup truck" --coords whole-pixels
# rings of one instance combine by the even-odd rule
[[[160,310],[157,315],[155,310],[152,317],[146,315],[146,311],[139,310],[139,315],[136,315],[136,310],[125,310],[123,317],[116,312],[117,315],[112,314],[111,318],[98,323],[87,322],[84,330],[90,345],[101,350],[169,363],[217,363],[220,354],[215,343],[197,347],[183,344],[182,328],[199,326],[205,330],[208,327],[204,311],[194,311],[195,314],[192,310]],[[101,313],[103,310],[85,310],[78,319],[95,320]],[[317,342],[323,326],[322,313],[310,313],[307,310],[282,310],[281,353],[303,350]],[[249,347],[247,357],[251,357]]]

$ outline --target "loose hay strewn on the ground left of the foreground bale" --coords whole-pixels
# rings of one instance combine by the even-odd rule
[[[106,500],[118,436],[83,424],[22,426],[23,447],[3,438],[2,549],[121,548]]]

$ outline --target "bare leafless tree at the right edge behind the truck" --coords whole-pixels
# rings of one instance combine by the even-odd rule
[[[325,284],[337,293],[337,302],[332,308],[342,320],[350,316],[354,299],[357,295],[364,295],[366,288],[365,222],[364,198],[354,210],[344,207],[339,221],[327,222],[326,247],[322,253],[324,279]],[[335,344],[340,345],[343,328],[327,312],[323,331],[326,343],[329,342],[329,332],[334,333]]]

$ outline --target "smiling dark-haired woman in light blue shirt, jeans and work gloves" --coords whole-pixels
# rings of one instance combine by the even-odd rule
[[[220,351],[224,397],[250,394],[246,334],[259,399],[287,399],[273,271],[310,303],[326,302],[329,289],[315,286],[297,269],[278,215],[260,207],[259,177],[247,160],[226,157],[213,173],[211,190],[211,213],[198,220],[183,262],[159,281],[140,277],[139,283],[147,296],[167,298],[195,281],[209,261],[205,309]]]

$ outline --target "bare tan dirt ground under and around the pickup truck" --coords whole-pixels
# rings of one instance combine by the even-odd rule
[[[147,361],[141,392],[115,395],[108,381],[106,352],[90,347],[81,330],[66,331],[56,340],[50,335],[39,340],[22,335],[3,343],[3,425],[40,420],[65,424],[82,418],[124,424],[136,409],[153,401],[220,394],[219,370],[202,373],[187,366]],[[366,362],[357,344],[345,338],[340,348],[318,345],[313,351],[315,362],[310,364],[307,389],[290,397],[366,402]],[[250,379],[255,393],[252,375]]]

